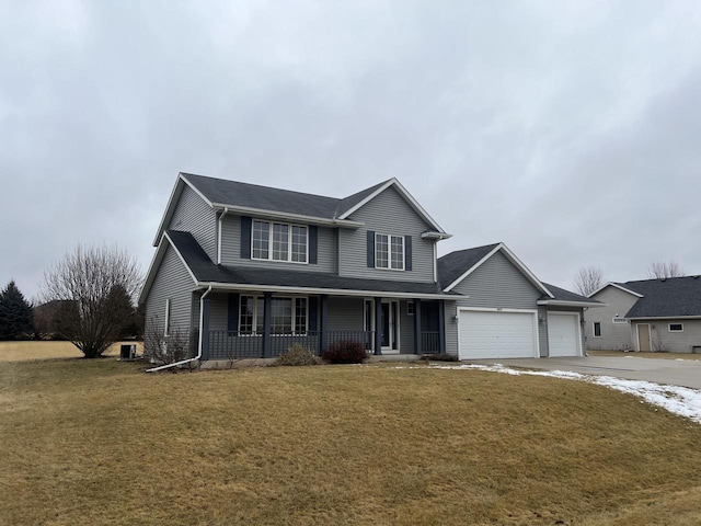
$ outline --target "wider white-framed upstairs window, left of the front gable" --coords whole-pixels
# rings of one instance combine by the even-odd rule
[[[251,258],[307,263],[308,241],[307,227],[255,219],[251,232]]]

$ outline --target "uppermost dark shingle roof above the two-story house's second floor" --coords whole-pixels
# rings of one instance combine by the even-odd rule
[[[211,203],[327,219],[338,217],[387,183],[387,181],[383,181],[348,197],[338,199],[192,173],[183,173],[182,175]]]

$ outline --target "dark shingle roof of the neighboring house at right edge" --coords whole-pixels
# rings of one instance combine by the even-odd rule
[[[701,316],[701,277],[668,277],[618,283],[642,294],[625,318]]]

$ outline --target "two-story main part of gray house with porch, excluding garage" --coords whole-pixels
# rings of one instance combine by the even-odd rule
[[[147,334],[186,332],[203,359],[348,339],[443,352],[448,237],[394,179],[332,198],[181,173],[140,298]]]

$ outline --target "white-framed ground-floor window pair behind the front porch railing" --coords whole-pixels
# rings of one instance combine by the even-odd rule
[[[265,298],[263,296],[241,296],[239,306],[239,332],[261,334]],[[307,332],[307,298],[272,298],[271,333],[303,334]]]

